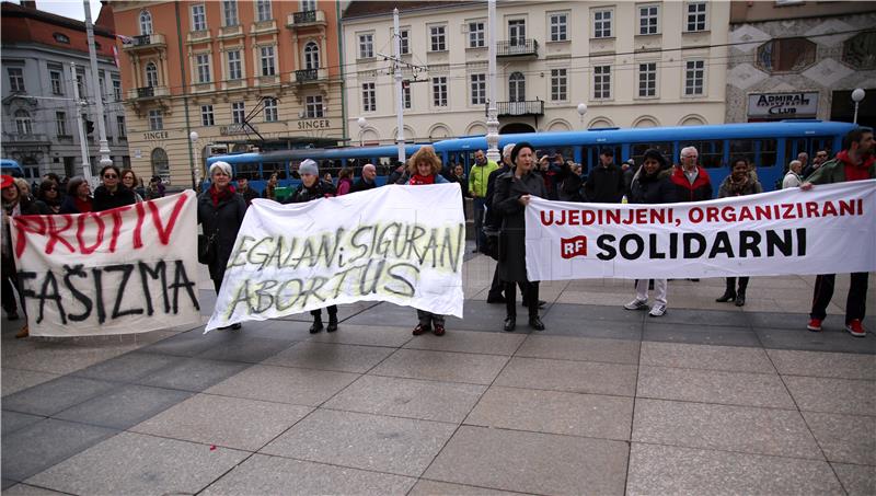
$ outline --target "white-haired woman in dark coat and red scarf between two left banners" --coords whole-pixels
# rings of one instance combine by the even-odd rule
[[[216,162],[210,165],[210,187],[198,196],[198,223],[204,227],[204,235],[208,239],[215,237],[216,256],[207,266],[210,269],[210,279],[219,295],[226,266],[234,249],[238,231],[243,224],[246,215],[246,200],[234,193],[231,185],[231,165],[228,162]],[[232,324],[231,328],[240,328],[240,324]]]

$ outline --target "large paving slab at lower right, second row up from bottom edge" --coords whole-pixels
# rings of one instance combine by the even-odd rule
[[[633,441],[823,460],[799,412],[636,400]]]

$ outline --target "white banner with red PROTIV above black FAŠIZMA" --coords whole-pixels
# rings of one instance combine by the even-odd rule
[[[200,322],[197,198],[13,218],[32,336],[132,334]]]

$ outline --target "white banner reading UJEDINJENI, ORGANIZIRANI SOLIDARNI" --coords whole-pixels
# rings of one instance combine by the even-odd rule
[[[876,180],[711,201],[606,205],[533,198],[531,280],[876,270]]]

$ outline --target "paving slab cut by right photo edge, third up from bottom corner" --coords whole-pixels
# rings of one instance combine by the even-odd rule
[[[785,376],[800,411],[876,415],[876,382]]]

